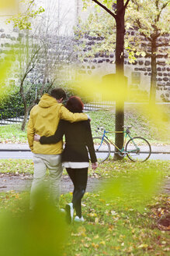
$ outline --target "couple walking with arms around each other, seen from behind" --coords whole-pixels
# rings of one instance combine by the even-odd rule
[[[42,184],[47,168],[50,172],[50,199],[54,204],[58,203],[63,165],[74,184],[72,202],[65,208],[68,222],[73,219],[74,208],[75,221],[83,222],[81,204],[88,180],[88,152],[92,169],[96,169],[98,164],[90,122],[88,116],[82,113],[82,101],[73,96],[64,107],[62,101],[65,98],[61,88],[54,89],[50,95],[44,94],[30,112],[27,134],[34,162],[30,208],[35,204],[34,194]]]

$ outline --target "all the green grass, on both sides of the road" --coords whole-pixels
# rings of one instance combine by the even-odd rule
[[[89,114],[92,118],[93,132],[97,126],[105,126],[107,130],[113,130],[114,112],[99,111],[90,112]],[[134,125],[135,128],[132,130],[134,136],[140,133],[140,136],[151,140],[153,143],[167,143],[163,138],[158,138],[154,125],[144,116],[138,115],[132,109],[126,115],[125,124]],[[20,125],[0,126],[1,142],[25,143],[26,132],[19,130],[19,127]],[[0,173],[32,175],[33,161],[2,159],[0,160]],[[86,221],[82,224],[73,223],[66,227],[67,238],[63,244],[63,253],[60,256],[168,255],[170,252],[169,224],[167,224],[169,221],[169,198],[167,194],[158,194],[158,187],[157,193],[153,194],[153,188],[155,189],[154,185],[156,183],[163,186],[162,182],[168,179],[169,174],[169,162],[159,160],[148,160],[142,163],[130,162],[127,159],[121,162],[109,160],[100,164],[95,171],[89,169],[89,176],[102,180],[107,178],[109,183],[106,183],[106,187],[102,187],[97,193],[85,193],[82,202],[82,213]],[[61,195],[61,207],[71,201],[71,196],[71,193]],[[23,214],[22,221],[26,216],[26,209],[28,209],[28,198],[29,192],[16,193],[15,191],[9,191],[0,193],[0,212],[4,209],[8,210],[9,219]],[[40,214],[43,216],[41,226],[37,228],[36,219],[35,226],[30,226],[29,229],[29,235],[35,238],[33,243],[36,244],[37,248],[39,244],[42,247],[42,240],[36,243],[40,234],[43,243],[45,244],[47,240],[47,243],[49,243],[47,247],[51,247],[49,240],[51,230],[49,226],[44,225],[44,223],[47,224],[44,212],[43,209]],[[54,219],[49,218],[49,216],[48,219],[50,219],[51,226]],[[5,215],[0,215],[0,222],[5,222]],[[9,224],[6,222],[5,226],[6,237],[8,237],[11,250],[12,246],[17,246],[19,250],[19,247],[23,244],[21,243],[18,246],[18,237],[21,236],[20,230],[26,233],[26,239],[29,238],[29,235],[27,235],[28,226],[25,230],[24,226],[19,227],[20,222],[17,222],[17,226],[12,226],[15,223],[11,221],[10,226],[8,226]],[[7,233],[8,228],[10,236]],[[33,233],[30,233],[31,228]],[[58,236],[59,231],[58,229],[55,230]],[[28,244],[31,248],[29,240]],[[1,247],[3,247],[3,243]],[[18,255],[20,254],[18,253]],[[34,256],[35,253],[32,255]],[[54,254],[50,255],[53,256]]]

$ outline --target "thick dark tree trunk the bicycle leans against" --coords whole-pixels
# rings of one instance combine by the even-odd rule
[[[124,78],[124,8],[123,0],[117,0],[117,11],[116,11],[116,76],[120,80],[120,85],[123,86],[122,81]],[[115,130],[123,131],[124,125],[124,101],[123,98],[119,102],[116,101],[116,120]],[[118,148],[123,148],[123,133],[116,133],[115,144]],[[118,155],[119,151],[115,148],[114,160],[123,159],[122,156]]]

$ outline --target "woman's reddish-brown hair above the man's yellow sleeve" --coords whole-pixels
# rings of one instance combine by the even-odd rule
[[[84,107],[81,98],[77,96],[71,96],[66,103],[66,108],[73,113],[81,113]]]

